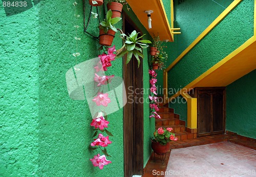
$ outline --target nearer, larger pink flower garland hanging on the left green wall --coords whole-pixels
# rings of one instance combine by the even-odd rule
[[[104,71],[108,70],[108,67],[112,66],[111,61],[115,60],[116,52],[115,45],[113,47],[105,47],[105,50],[107,52],[103,52],[103,54],[99,55],[100,61],[96,64],[95,68],[95,77],[94,82],[96,83],[97,87],[99,87],[99,90],[97,94],[92,99],[93,102],[97,106],[104,106],[107,107],[108,104],[111,103],[111,99],[109,97],[108,93],[103,93],[101,90],[101,87],[104,87],[105,85],[108,85],[111,83],[111,80],[114,78],[114,75],[104,75]],[[102,89],[103,90],[103,89]],[[101,115],[104,114],[104,115]],[[106,160],[107,157],[111,157],[107,151],[106,147],[112,143],[112,141],[109,139],[110,136],[113,136],[106,128],[108,128],[109,121],[106,120],[107,115],[102,110],[99,110],[95,116],[93,117],[93,120],[91,122],[91,126],[94,127],[94,135],[93,137],[97,137],[94,139],[94,141],[91,143],[91,149],[95,150],[97,148],[100,148],[102,153],[104,155],[100,156],[100,154],[97,154],[94,156],[93,159],[90,159],[93,166],[99,167],[99,169],[103,169],[104,165],[108,165],[111,163],[111,161]],[[106,133],[108,136],[104,136],[102,133]]]

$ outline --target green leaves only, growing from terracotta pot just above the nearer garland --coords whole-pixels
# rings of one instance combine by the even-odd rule
[[[103,29],[104,33],[108,32],[109,30],[113,30],[114,32],[117,32],[117,29],[114,26],[114,24],[116,24],[122,18],[121,17],[111,18],[111,17],[112,17],[112,11],[109,10],[106,13],[106,18],[100,22],[100,29]]]

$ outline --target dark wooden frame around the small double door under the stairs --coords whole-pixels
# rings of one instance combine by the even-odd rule
[[[225,133],[225,128],[226,128],[226,87],[196,87],[195,88],[195,92],[193,94],[194,97],[196,97],[197,99],[199,98],[199,95],[198,95],[198,91],[200,90],[223,90],[223,131],[218,131],[218,132],[213,132],[212,131],[212,127],[211,127],[211,133],[205,133],[203,134],[203,136],[206,136],[206,135],[214,135],[214,134],[219,134],[220,132],[223,132]],[[211,96],[211,102],[212,102],[212,96]],[[197,101],[197,111],[198,111],[198,115],[197,115],[197,136],[202,136],[202,135],[199,135],[199,99]],[[211,113],[212,113],[212,108],[211,108]],[[212,115],[211,115],[211,121],[212,121]]]

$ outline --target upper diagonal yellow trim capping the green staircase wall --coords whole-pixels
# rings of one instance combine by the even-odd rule
[[[180,55],[175,59],[173,63],[171,63],[165,70],[165,72],[168,72],[170,69],[172,69],[195,45],[197,45],[212,29],[214,29],[218,23],[220,23],[224,17],[226,17],[229,12],[237,7],[239,3],[241,3],[242,0],[234,0],[198,37],[195,41],[193,41]],[[254,0],[255,2],[256,0]],[[255,4],[254,4],[255,5]],[[255,26],[255,6],[254,6],[254,26]],[[254,34],[255,34],[255,28],[254,28]],[[166,80],[167,82],[167,80]],[[167,86],[167,83],[164,83],[165,86]],[[167,87],[165,88],[167,90]],[[176,94],[175,94],[176,95]],[[180,94],[178,94],[180,95]],[[167,95],[164,95],[167,97]]]

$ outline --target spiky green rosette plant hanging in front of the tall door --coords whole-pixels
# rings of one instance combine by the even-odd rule
[[[135,30],[130,34],[121,34],[121,38],[124,41],[123,46],[118,50],[117,58],[121,58],[127,54],[126,64],[129,63],[133,56],[138,60],[138,67],[140,66],[140,58],[144,58],[142,54],[142,48],[147,48],[147,43],[152,43],[150,40],[141,40],[144,35],[138,37],[138,34]],[[123,50],[123,51],[122,51]],[[122,51],[122,52],[120,52]],[[119,53],[120,52],[120,53]]]

